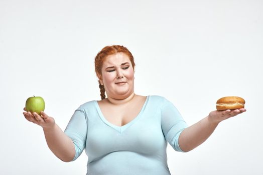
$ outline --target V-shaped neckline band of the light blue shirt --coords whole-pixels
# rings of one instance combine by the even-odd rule
[[[121,133],[121,132],[123,132],[127,127],[129,127],[130,125],[132,125],[133,123],[135,123],[135,122],[141,117],[141,115],[142,115],[142,113],[144,112],[145,107],[146,107],[149,99],[150,99],[150,95],[147,95],[146,100],[145,100],[145,103],[144,103],[141,111],[139,112],[139,114],[138,114],[133,120],[129,121],[128,123],[126,123],[126,124],[124,124],[124,125],[122,125],[122,126],[117,126],[117,125],[109,122],[109,121],[104,117],[102,111],[100,110],[100,107],[99,107],[99,105],[98,105],[98,101],[97,101],[97,100],[94,100],[94,102],[95,102],[95,106],[96,106],[96,108],[97,108],[97,112],[98,112],[99,117],[101,118],[101,120],[102,120],[105,124],[107,124],[108,126],[116,129],[118,132]]]

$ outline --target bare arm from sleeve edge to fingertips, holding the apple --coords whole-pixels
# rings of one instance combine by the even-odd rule
[[[48,147],[58,158],[66,162],[73,160],[75,156],[74,143],[55,123],[53,117],[48,116],[43,111],[41,116],[30,111],[23,112],[23,114],[27,120],[42,126]]]

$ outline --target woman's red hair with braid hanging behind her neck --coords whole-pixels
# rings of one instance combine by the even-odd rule
[[[105,46],[104,48],[102,48],[102,50],[98,52],[98,54],[95,57],[95,72],[98,78],[100,78],[102,75],[101,69],[102,69],[102,65],[103,65],[105,58],[108,55],[116,54],[118,52],[125,53],[128,56],[133,68],[135,67],[134,56],[133,54],[131,54],[131,52],[126,47],[124,47],[123,45]],[[104,85],[100,84],[99,80],[98,82],[99,82],[101,99],[105,99]]]

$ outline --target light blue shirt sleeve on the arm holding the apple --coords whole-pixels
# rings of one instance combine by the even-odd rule
[[[79,157],[86,145],[87,122],[84,110],[80,107],[75,110],[64,132],[74,143],[76,151],[75,157],[72,160],[74,161]]]

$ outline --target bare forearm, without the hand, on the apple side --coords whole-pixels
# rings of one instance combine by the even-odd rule
[[[71,161],[75,156],[73,141],[57,124],[54,124],[52,128],[43,128],[43,130],[50,150],[61,160]]]

